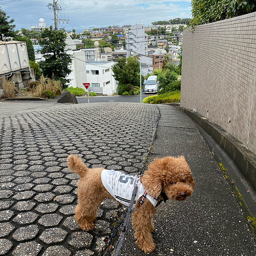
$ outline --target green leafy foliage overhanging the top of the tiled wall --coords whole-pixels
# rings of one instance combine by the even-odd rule
[[[256,11],[255,0],[192,0],[192,19],[189,25],[216,22]]]

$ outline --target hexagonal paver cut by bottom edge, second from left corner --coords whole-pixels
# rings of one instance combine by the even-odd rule
[[[12,256],[36,256],[43,246],[37,242],[20,243],[13,251]]]

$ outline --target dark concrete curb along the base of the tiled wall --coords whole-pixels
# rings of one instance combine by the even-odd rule
[[[240,141],[218,125],[210,122],[207,118],[180,106],[176,106],[176,108],[185,113],[212,136],[212,138],[232,158],[241,173],[256,190],[256,156]]]

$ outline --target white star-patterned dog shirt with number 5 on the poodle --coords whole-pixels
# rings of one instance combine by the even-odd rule
[[[133,203],[132,208],[136,208],[136,203],[139,198],[142,196],[140,200],[140,204],[143,203],[144,199],[147,198],[150,202],[157,206],[160,202],[160,199],[151,197],[147,195],[142,183],[138,180],[138,176],[133,176],[129,174],[125,174],[123,172],[114,171],[114,170],[103,170],[101,172],[101,181],[106,190],[120,203],[129,206],[131,201],[132,192],[134,185],[138,181],[138,190],[135,197],[135,201]]]

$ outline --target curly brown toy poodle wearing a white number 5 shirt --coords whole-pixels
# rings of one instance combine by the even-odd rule
[[[74,218],[86,231],[94,228],[98,207],[105,198],[128,206],[133,186],[138,183],[132,223],[136,244],[144,253],[155,250],[151,233],[156,206],[167,199],[185,200],[194,190],[194,179],[184,156],[156,158],[142,177],[104,168],[88,169],[75,155],[69,155],[67,162],[69,169],[80,175]]]

